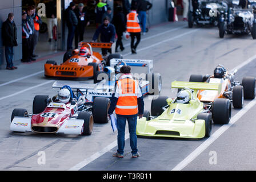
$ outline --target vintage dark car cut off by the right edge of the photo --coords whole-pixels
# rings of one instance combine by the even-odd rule
[[[219,37],[225,34],[247,34],[256,39],[256,5],[249,6],[248,9],[241,7],[230,7],[227,17],[221,17],[219,22]]]

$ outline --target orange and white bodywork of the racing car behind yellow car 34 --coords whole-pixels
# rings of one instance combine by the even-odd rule
[[[214,78],[211,76],[209,79],[213,78],[210,82],[221,84],[221,92],[218,93],[218,90],[198,90],[197,98],[201,102],[213,102],[215,98],[226,98],[223,94],[229,90],[231,87],[231,82],[229,79],[223,78]]]

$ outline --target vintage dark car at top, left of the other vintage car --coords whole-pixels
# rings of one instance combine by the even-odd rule
[[[227,13],[228,3],[218,0],[190,0],[188,23],[192,28],[194,24],[218,25],[221,14]]]

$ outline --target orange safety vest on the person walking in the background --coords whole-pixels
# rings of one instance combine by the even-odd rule
[[[131,13],[127,14],[127,32],[141,32],[137,17],[136,11],[131,11]]]

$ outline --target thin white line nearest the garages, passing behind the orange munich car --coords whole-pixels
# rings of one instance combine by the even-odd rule
[[[160,36],[160,35],[163,35],[163,34],[166,34],[166,33],[169,33],[169,32],[173,32],[173,31],[179,30],[179,29],[181,29],[181,28],[185,28],[185,27],[187,27],[187,26],[181,26],[181,27],[178,27],[178,28],[173,28],[173,29],[171,29],[171,30],[164,31],[164,32],[161,32],[161,33],[159,33],[159,34],[155,34],[155,35],[153,35],[153,36],[149,36],[149,37],[147,37],[147,38],[142,39],[141,42],[144,41],[144,40],[148,40],[148,39],[154,38],[154,37],[156,37],[156,36]],[[130,44],[125,44],[124,47],[127,47],[127,46],[129,46],[129,45],[130,45]],[[130,53],[128,53],[128,54],[126,54],[126,55],[129,55],[129,54],[130,54]],[[124,55],[124,56],[125,56],[125,55]],[[31,75],[27,75],[27,76],[24,76],[24,77],[21,77],[21,78],[12,80],[12,81],[5,82],[5,83],[3,83],[3,84],[0,84],[0,86],[5,86],[5,85],[11,84],[11,83],[13,83],[13,82],[20,81],[20,80],[23,80],[23,79],[25,79],[25,78],[29,78],[29,77],[38,75],[38,74],[40,74],[40,73],[43,73],[43,71],[39,71],[39,72],[33,73],[33,74],[31,74]]]

